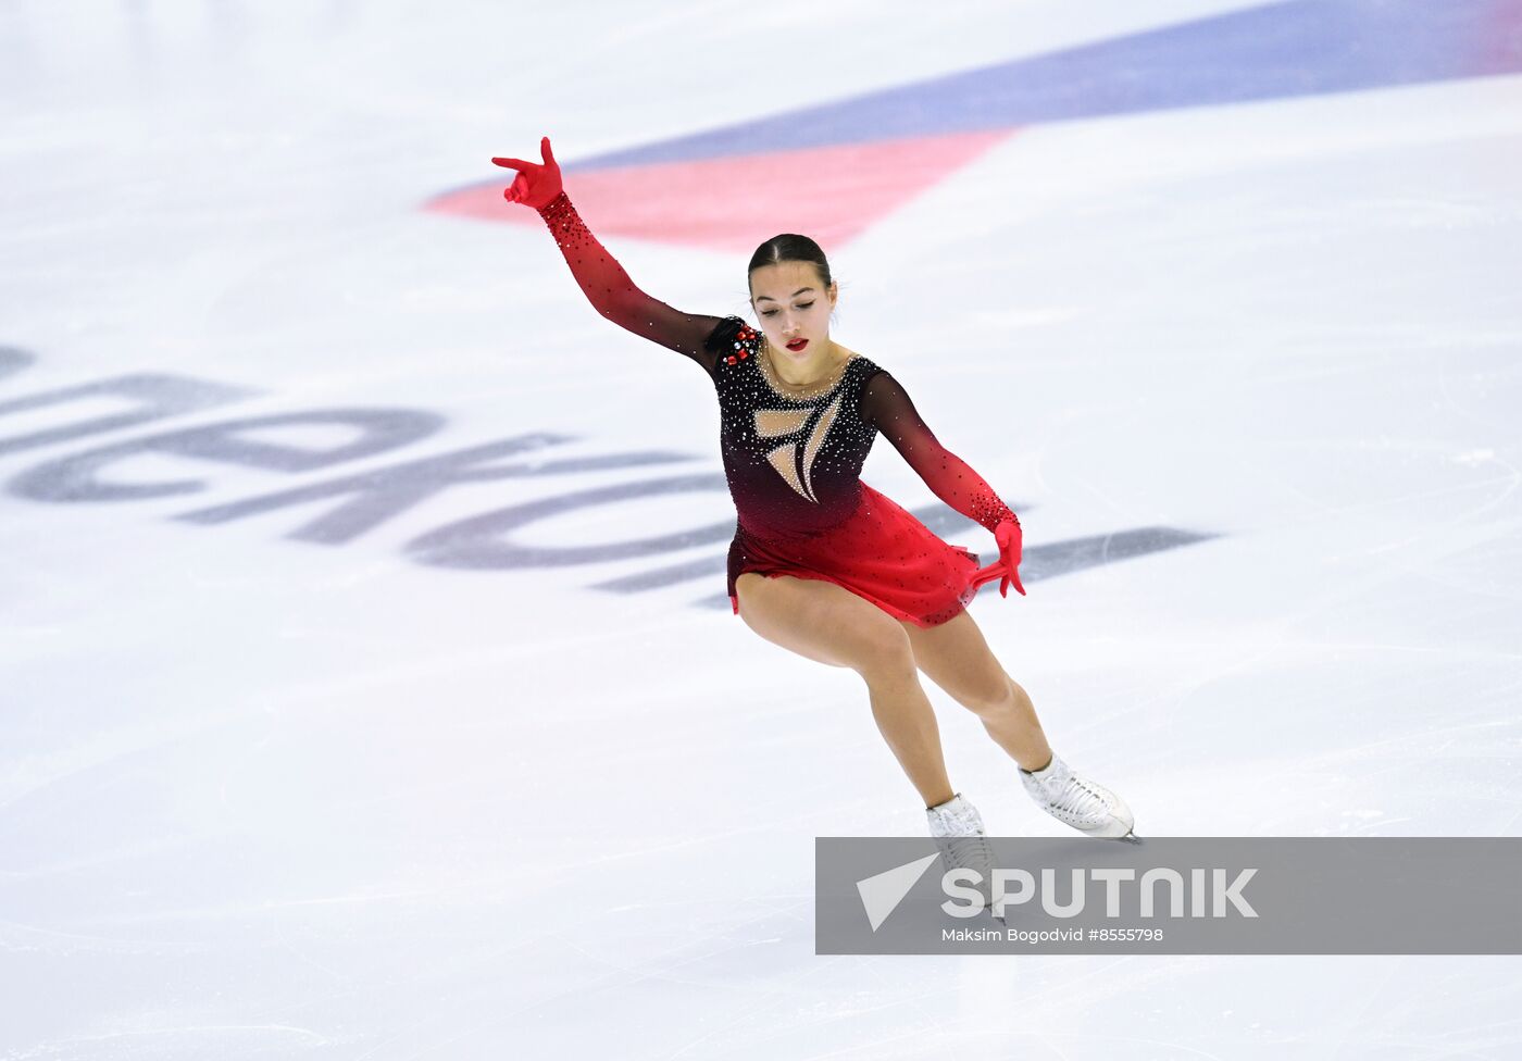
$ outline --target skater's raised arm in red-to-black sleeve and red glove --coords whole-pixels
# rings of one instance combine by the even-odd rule
[[[683,314],[635,286],[624,266],[598,242],[571,204],[560,183],[560,166],[551,154],[549,137],[543,137],[539,146],[543,164],[521,158],[492,160],[498,166],[519,170],[502,196],[539,212],[554,233],[571,274],[597,312],[641,338],[686,355],[712,374],[714,353],[706,349],[705,339],[720,318]]]

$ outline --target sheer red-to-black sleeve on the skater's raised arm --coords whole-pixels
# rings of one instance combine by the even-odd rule
[[[686,355],[714,374],[714,352],[706,349],[705,339],[718,317],[683,314],[636,288],[624,266],[583,224],[565,192],[540,207],[539,216],[549,225],[571,274],[597,312],[641,338]]]

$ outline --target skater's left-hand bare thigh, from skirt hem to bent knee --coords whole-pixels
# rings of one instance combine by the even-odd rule
[[[735,580],[735,597],[746,626],[799,656],[861,673],[913,668],[898,620],[833,581],[747,571]]]

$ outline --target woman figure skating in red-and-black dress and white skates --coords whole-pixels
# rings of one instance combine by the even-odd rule
[[[829,338],[837,285],[819,247],[775,236],[750,259],[761,330],[738,317],[671,309],[639,291],[587,231],[540,140],[543,163],[516,169],[508,202],[536,209],[581,291],[610,321],[682,353],[712,378],[724,473],[738,521],[729,550],[732,609],[758,635],[866,682],[872,714],[925,802],[947,863],[989,865],[983,822],[951,790],[935,712],[916,671],[974,711],[1049,814],[1090,836],[1125,837],[1132,816],[1108,789],[1071,772],[1041,732],[1030,697],[994,659],[965,606],[977,586],[1020,585],[1020,521],[941,446],[887,371]],[[860,480],[872,438],[887,435],[930,489],[994,531],[1000,562],[947,545]],[[956,845],[950,839],[960,839]]]

